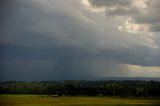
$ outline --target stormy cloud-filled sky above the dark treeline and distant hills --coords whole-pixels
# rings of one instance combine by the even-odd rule
[[[160,0],[1,0],[0,81],[160,77]]]

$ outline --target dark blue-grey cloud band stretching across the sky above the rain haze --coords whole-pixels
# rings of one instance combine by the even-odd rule
[[[159,50],[147,47],[134,47],[128,49],[105,49],[99,53],[85,51],[76,48],[37,48],[24,46],[0,46],[0,59],[41,59],[41,60],[72,60],[83,58],[103,58],[106,61],[114,61],[123,64],[141,66],[160,66]],[[12,52],[12,53],[11,53]],[[148,59],[149,58],[149,59]],[[73,62],[74,63],[74,62]]]

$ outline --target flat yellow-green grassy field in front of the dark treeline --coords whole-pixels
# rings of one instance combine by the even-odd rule
[[[154,98],[0,95],[0,106],[160,106]]]

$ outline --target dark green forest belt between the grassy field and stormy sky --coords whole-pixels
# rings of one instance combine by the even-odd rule
[[[0,82],[0,94],[39,94],[58,96],[160,97],[158,81],[41,81]]]

